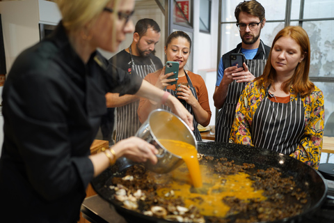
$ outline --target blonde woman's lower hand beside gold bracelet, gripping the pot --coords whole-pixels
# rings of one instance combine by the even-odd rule
[[[130,137],[123,139],[118,141],[112,148],[117,158],[124,156],[134,162],[146,162],[150,160],[152,164],[157,163],[157,148],[141,138]]]

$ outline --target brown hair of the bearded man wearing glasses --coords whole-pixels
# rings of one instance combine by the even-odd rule
[[[237,23],[239,23],[239,14],[241,12],[259,17],[260,20],[264,20],[266,14],[263,6],[255,0],[243,1],[237,5],[234,10],[234,16],[237,19]]]

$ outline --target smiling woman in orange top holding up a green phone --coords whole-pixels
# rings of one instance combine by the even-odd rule
[[[184,102],[184,107],[193,115],[193,133],[198,141],[202,141],[197,126],[198,123],[203,126],[209,125],[211,111],[204,80],[200,75],[196,75],[184,69],[190,52],[191,38],[188,34],[183,31],[170,33],[165,45],[165,54],[167,61],[179,63],[178,77],[168,79],[168,77],[175,75],[175,73],[170,72],[165,75],[166,66],[164,66],[161,70],[148,74],[145,80],[157,86],[159,89],[164,89],[164,91],[167,91],[181,100],[181,102]],[[175,81],[177,84],[170,84]],[[147,100],[146,98],[141,98],[138,107],[139,121],[141,121],[141,123],[146,121],[150,112],[158,108],[168,109],[165,105]]]

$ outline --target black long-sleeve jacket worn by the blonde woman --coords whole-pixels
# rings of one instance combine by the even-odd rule
[[[77,222],[93,178],[88,158],[107,92],[138,91],[142,79],[99,53],[88,63],[60,23],[20,54],[3,88],[0,213],[10,222]]]

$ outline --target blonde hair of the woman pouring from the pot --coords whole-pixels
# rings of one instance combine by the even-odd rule
[[[56,3],[63,16],[65,29],[79,31],[87,24],[92,26],[108,3],[113,2],[116,6],[118,1],[120,0],[56,0]]]

